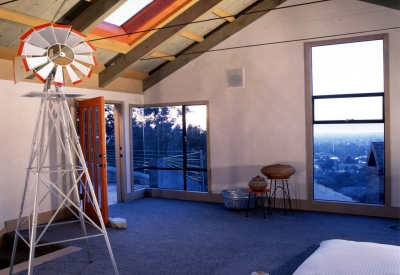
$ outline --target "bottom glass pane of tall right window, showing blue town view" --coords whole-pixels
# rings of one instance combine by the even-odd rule
[[[314,125],[314,199],[384,204],[384,124]]]

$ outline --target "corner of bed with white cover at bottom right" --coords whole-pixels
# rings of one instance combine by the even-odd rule
[[[400,246],[323,241],[293,275],[400,275]]]

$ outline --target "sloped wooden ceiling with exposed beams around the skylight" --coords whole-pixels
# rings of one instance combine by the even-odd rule
[[[155,1],[166,5],[166,0]],[[32,26],[71,25],[97,48],[99,66],[92,69],[98,74],[98,87],[123,77],[142,81],[145,91],[285,1],[170,0],[171,12],[159,15],[150,30],[126,34],[115,27],[114,34],[122,36],[111,38],[99,32],[99,26],[126,0],[4,0],[0,59],[13,59],[21,35]],[[400,0],[361,1],[400,9]]]

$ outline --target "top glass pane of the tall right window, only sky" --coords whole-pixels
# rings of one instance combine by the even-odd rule
[[[383,40],[316,46],[313,95],[383,92]]]

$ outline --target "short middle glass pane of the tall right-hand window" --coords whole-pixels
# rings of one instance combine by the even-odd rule
[[[315,99],[314,119],[316,121],[383,119],[383,97]]]

